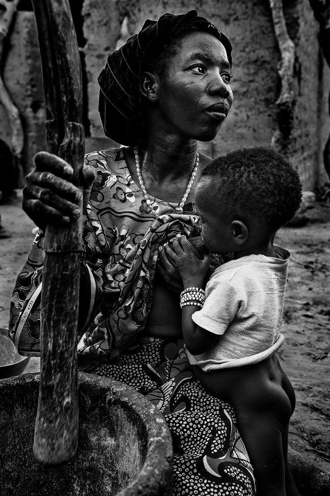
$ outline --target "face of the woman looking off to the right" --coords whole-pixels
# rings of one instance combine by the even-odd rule
[[[222,43],[189,33],[159,78],[158,112],[165,124],[201,141],[213,139],[233,102],[231,69]]]

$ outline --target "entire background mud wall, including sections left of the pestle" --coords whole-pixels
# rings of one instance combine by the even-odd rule
[[[327,180],[322,150],[330,130],[330,71],[319,50],[319,26],[309,1],[284,0],[283,5],[289,35],[296,45],[299,86],[289,156],[304,188],[313,189]],[[280,54],[268,0],[79,0],[72,1],[71,8],[83,54],[86,151],[113,144],[104,137],[97,111],[97,76],[107,54],[139,30],[146,18],[158,18],[164,12],[183,13],[190,8],[210,19],[233,45],[233,107],[213,142],[200,143],[199,149],[216,156],[241,146],[270,145],[278,129]],[[44,131],[39,125],[43,118],[43,109],[38,107],[42,101],[40,62],[31,16],[32,12],[18,12],[3,70],[27,132],[26,170],[35,151],[45,148]],[[8,137],[8,126],[0,107],[1,135]]]

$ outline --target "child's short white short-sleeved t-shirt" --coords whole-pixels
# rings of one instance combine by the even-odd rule
[[[248,255],[218,267],[205,289],[203,308],[193,314],[200,327],[217,334],[215,344],[189,361],[215,370],[261,362],[279,349],[290,253],[280,258]]]

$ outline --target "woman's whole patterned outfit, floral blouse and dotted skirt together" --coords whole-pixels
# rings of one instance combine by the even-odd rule
[[[83,222],[90,308],[78,345],[81,371],[123,381],[165,415],[172,433],[174,495],[255,495],[253,468],[232,407],[198,383],[182,340],[143,336],[158,246],[178,232],[198,235],[193,203],[149,196],[132,181],[123,149],[89,153],[97,176]],[[12,295],[9,335],[23,355],[40,353],[44,235],[39,231]]]

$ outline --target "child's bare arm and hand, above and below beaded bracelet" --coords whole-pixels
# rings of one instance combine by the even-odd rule
[[[175,265],[182,277],[184,289],[202,288],[206,271],[210,264],[210,257],[207,255],[203,260],[199,260],[194,255],[190,243],[185,236],[175,239],[170,246],[166,246],[166,254]],[[200,310],[197,305],[188,305],[182,309],[182,332],[186,347],[192,355],[199,355],[208,350],[216,341],[218,336],[212,332],[199,327],[192,319],[193,313]]]

